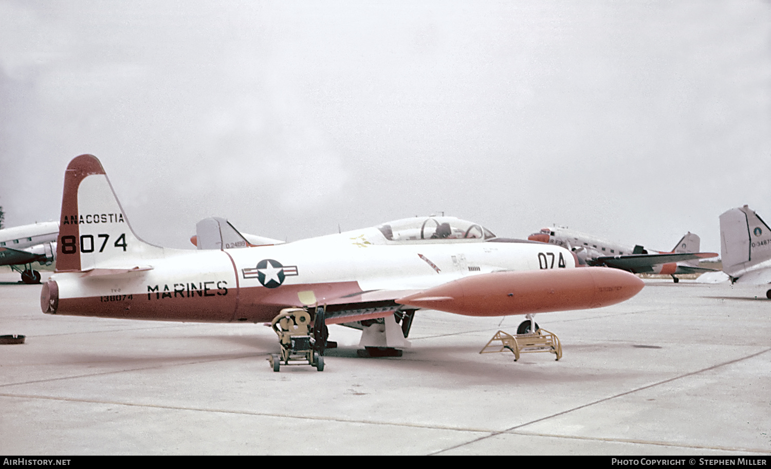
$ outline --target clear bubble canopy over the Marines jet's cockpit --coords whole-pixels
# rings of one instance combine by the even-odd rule
[[[484,241],[495,238],[495,235],[482,225],[455,217],[402,218],[388,221],[377,228],[385,239],[398,242]]]

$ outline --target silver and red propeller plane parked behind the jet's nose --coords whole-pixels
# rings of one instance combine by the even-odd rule
[[[635,274],[672,275],[675,283],[679,282],[675,274],[715,272],[712,268],[699,267],[699,259],[718,255],[716,252],[699,252],[701,239],[690,231],[680,238],[672,251],[653,251],[654,254],[649,254],[641,245],[629,248],[559,227],[541,228],[527,239],[567,248],[588,265],[607,265]]]

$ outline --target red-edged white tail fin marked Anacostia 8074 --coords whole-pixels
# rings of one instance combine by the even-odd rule
[[[73,158],[64,174],[56,272],[125,267],[161,256],[163,248],[134,234],[99,160]]]

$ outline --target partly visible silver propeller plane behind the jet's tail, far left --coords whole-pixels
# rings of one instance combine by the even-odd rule
[[[56,221],[0,230],[0,265],[10,265],[22,274],[24,283],[40,283],[40,272],[32,270],[32,262],[51,265],[56,260],[57,235],[59,224]]]

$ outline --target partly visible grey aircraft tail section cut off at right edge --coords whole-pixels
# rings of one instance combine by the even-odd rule
[[[771,228],[748,206],[720,215],[720,258],[732,283],[765,285],[771,299]]]

